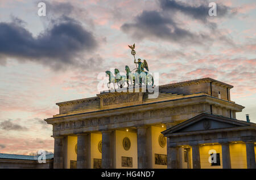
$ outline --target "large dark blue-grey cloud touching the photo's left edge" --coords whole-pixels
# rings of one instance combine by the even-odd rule
[[[69,65],[89,68],[81,53],[93,52],[98,43],[93,33],[75,19],[65,16],[57,19],[38,37],[17,22],[0,23],[0,65],[5,63],[5,57],[15,57],[55,70]]]

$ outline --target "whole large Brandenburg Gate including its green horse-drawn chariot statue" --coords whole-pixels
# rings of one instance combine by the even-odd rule
[[[115,76],[110,71],[106,71],[106,76],[108,84],[122,89],[126,83],[131,91],[114,89],[95,97],[59,102],[59,114],[45,120],[53,126],[54,168],[191,168],[191,159],[185,155],[189,148],[182,145],[188,142],[183,141],[183,136],[172,134],[172,127],[202,113],[236,119],[236,113],[244,108],[231,100],[232,85],[211,78],[154,85],[147,61],[136,61],[135,44],[129,47],[135,71],[125,66],[126,76],[119,74],[118,69]],[[142,91],[143,80],[147,87],[158,89],[158,96],[152,98],[152,92]],[[193,141],[196,136],[189,138]],[[173,143],[180,145],[173,147]],[[250,147],[253,155],[253,145]],[[195,153],[199,155],[199,151]],[[199,158],[195,153],[193,157]],[[254,166],[252,156],[249,160]],[[193,166],[196,167],[200,165]]]

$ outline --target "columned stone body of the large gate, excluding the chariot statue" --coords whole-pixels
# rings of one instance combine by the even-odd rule
[[[141,91],[101,92],[97,97],[57,103],[60,113],[46,119],[53,125],[55,168],[69,168],[71,158],[77,161],[77,168],[93,168],[93,159],[99,158],[92,149],[98,142],[85,135],[97,134],[102,140],[102,168],[122,168],[122,159],[133,160],[133,168],[167,168],[162,164],[169,150],[158,144],[160,132],[201,113],[235,119],[236,112],[244,107],[230,100],[231,88],[232,85],[204,78],[161,85],[156,98],[148,98],[148,93]],[[117,148],[119,132],[133,139],[131,147],[136,144],[137,149]],[[76,140],[71,142],[69,137]],[[71,147],[76,143],[77,155],[74,145]],[[183,153],[180,149],[171,151]]]

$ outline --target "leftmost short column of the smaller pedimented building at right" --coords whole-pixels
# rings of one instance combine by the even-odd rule
[[[179,168],[179,147],[168,147],[168,152],[170,154],[167,157],[169,169],[178,169]]]

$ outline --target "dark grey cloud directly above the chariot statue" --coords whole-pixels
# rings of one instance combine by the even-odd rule
[[[125,23],[121,29],[138,40],[158,38],[175,42],[200,43],[202,38],[207,38],[203,33],[195,34],[180,28],[170,16],[165,16],[158,11],[143,11],[135,18],[134,23]]]

